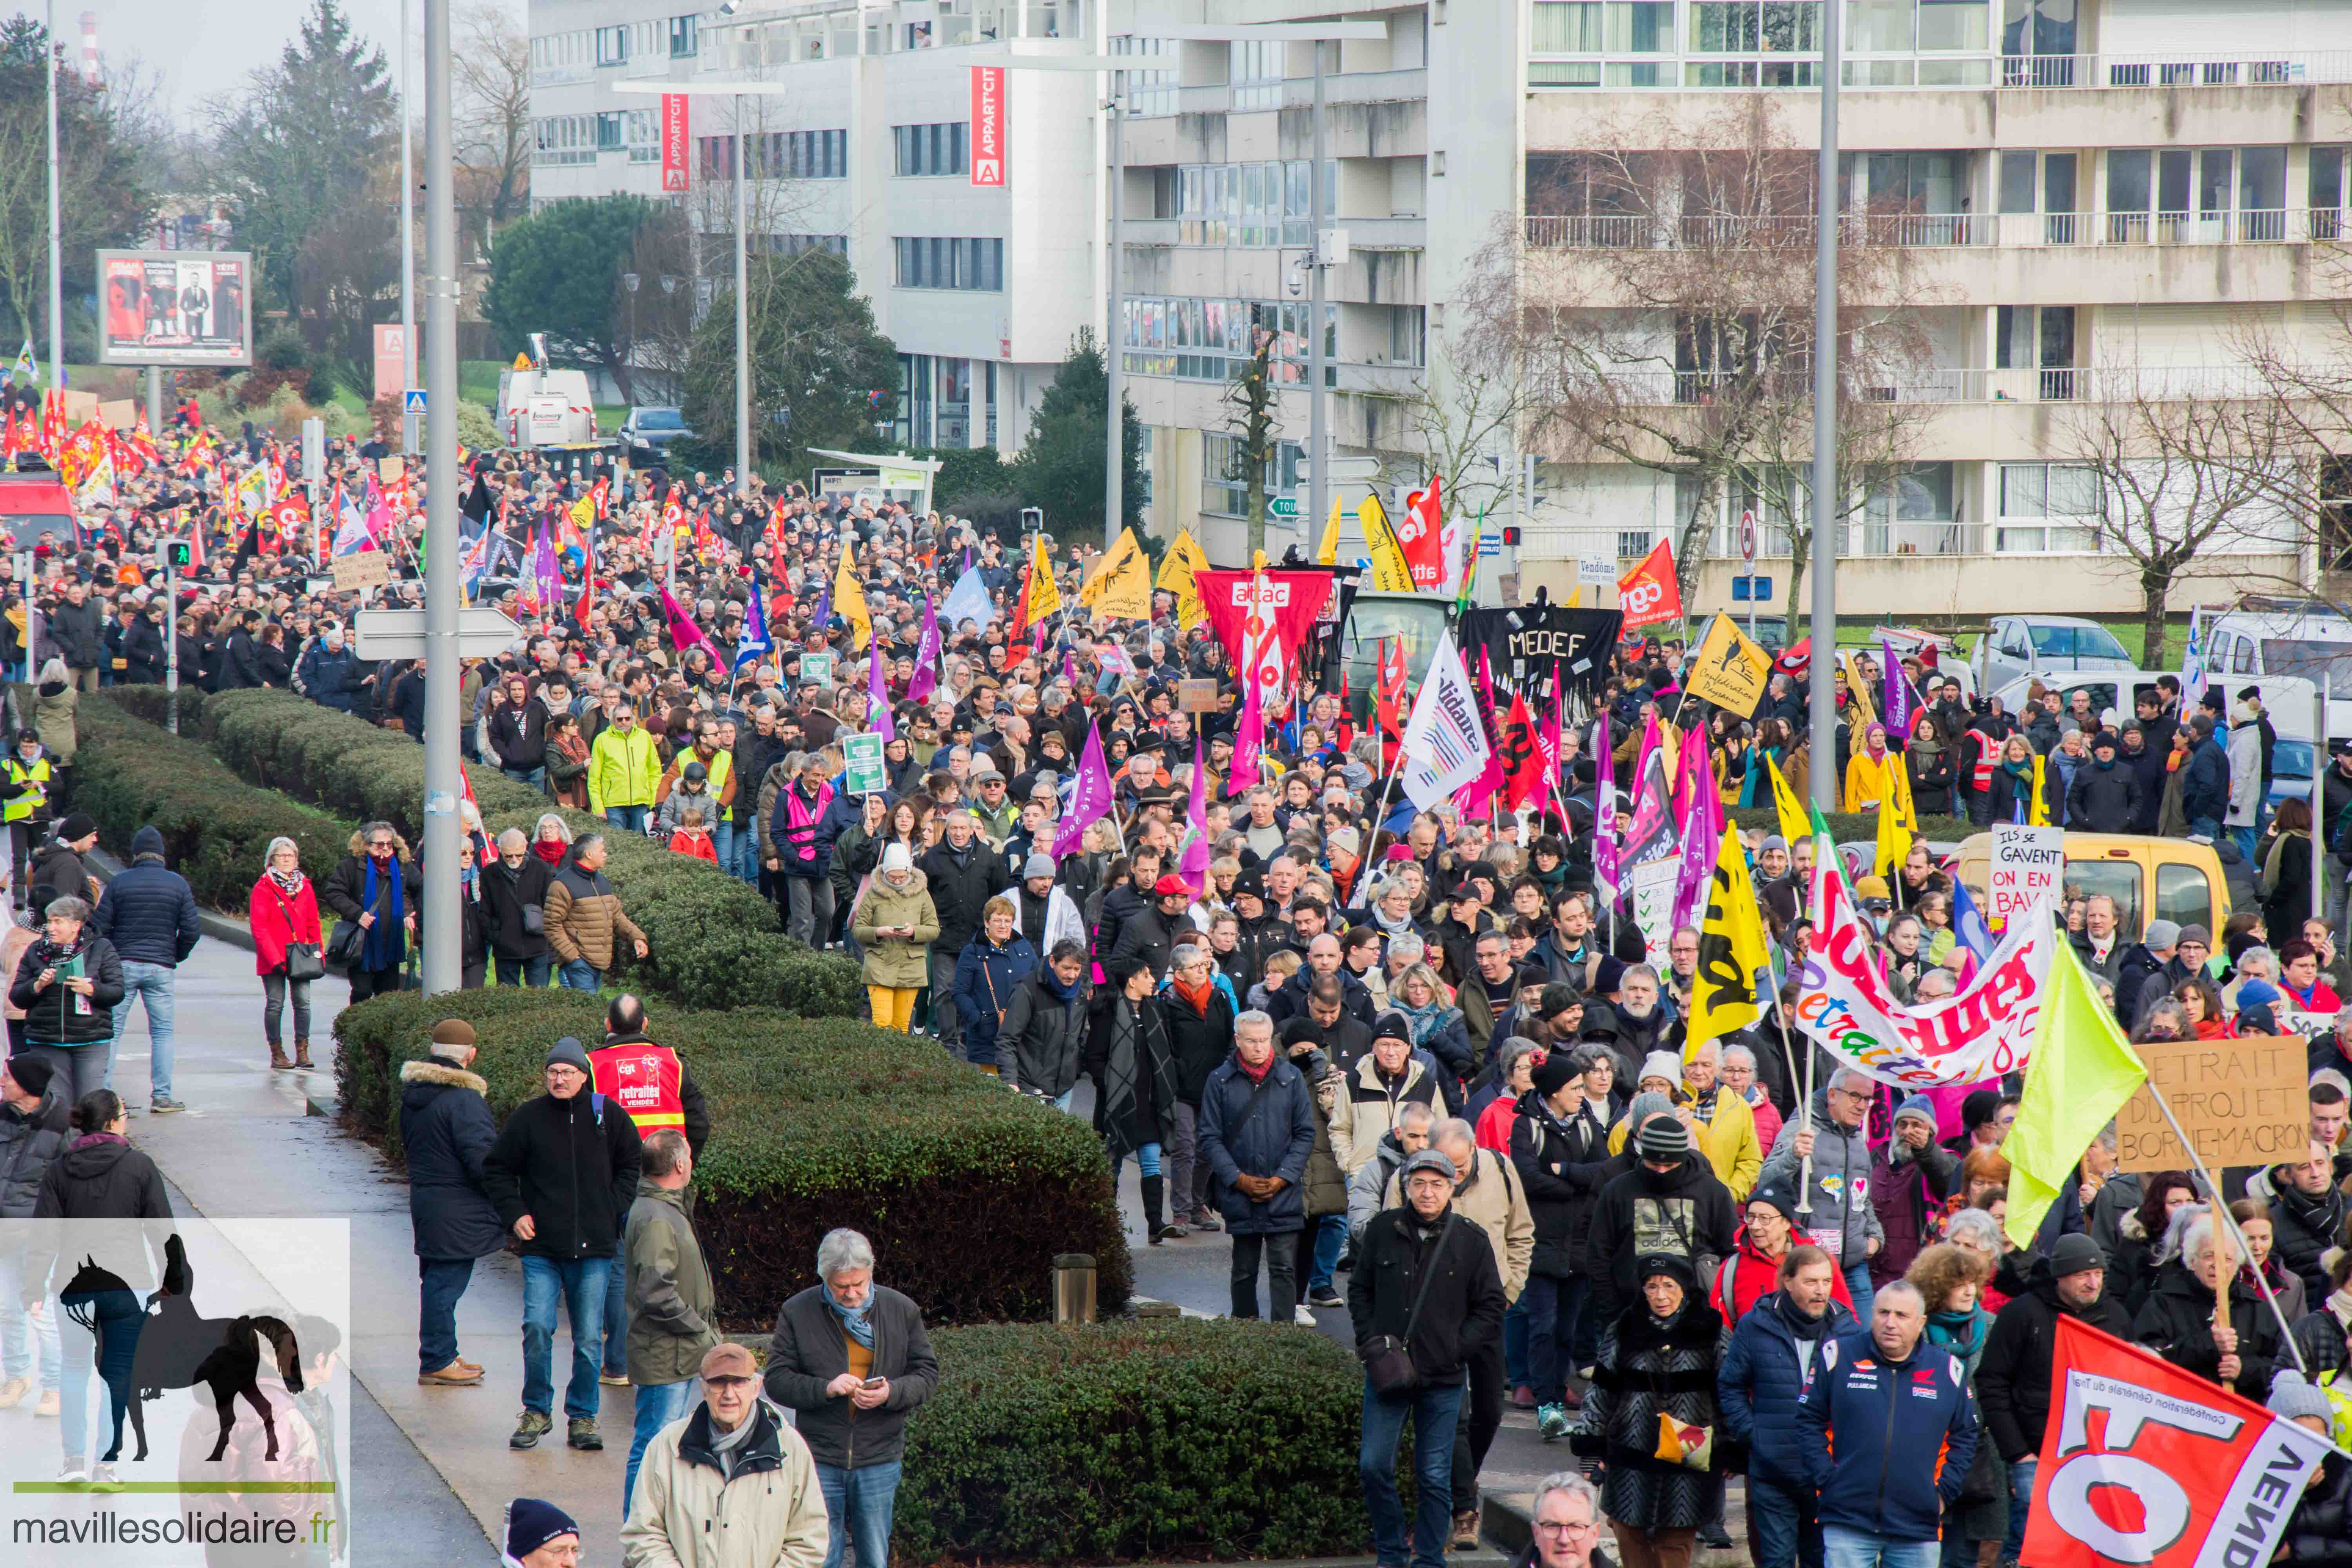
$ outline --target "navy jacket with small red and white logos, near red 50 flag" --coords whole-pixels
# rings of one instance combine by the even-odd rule
[[[1907,1359],[1889,1361],[1856,1328],[1823,1345],[1797,1436],[1823,1526],[1931,1542],[1976,1458],[1976,1396],[1959,1356],[1924,1333]]]

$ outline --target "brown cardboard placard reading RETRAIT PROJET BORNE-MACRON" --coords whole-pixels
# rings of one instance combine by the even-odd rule
[[[2300,1161],[2310,1147],[2312,1095],[2300,1039],[2152,1039],[2133,1051],[2147,1065],[2147,1084],[2114,1117],[2117,1171],[2190,1168],[2157,1107],[2157,1091],[2209,1171]]]

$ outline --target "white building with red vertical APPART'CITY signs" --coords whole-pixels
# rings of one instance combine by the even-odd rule
[[[532,0],[532,200],[677,202],[724,289],[741,158],[755,249],[828,247],[856,268],[898,346],[896,435],[1018,449],[1070,341],[1101,331],[1098,78],[1009,71],[1000,183],[976,183],[969,59],[1084,49],[1080,7],[684,2]],[[663,193],[661,99],[616,85],[729,80],[769,89],[691,96],[689,190]]]

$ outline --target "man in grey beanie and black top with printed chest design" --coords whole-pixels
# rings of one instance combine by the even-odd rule
[[[1644,1105],[1637,1095],[1635,1105]],[[1592,1276],[1592,1309],[1602,1324],[1613,1324],[1639,1300],[1635,1265],[1668,1253],[1691,1265],[1698,1279],[1715,1279],[1715,1265],[1738,1246],[1738,1208],[1731,1190],[1691,1145],[1686,1117],[1663,1107],[1625,1121],[1635,1126],[1625,1150],[1639,1164],[1602,1187],[1592,1206],[1592,1237],[1585,1244],[1585,1272]]]

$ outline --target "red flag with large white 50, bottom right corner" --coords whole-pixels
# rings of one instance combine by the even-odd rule
[[[2060,1312],[2018,1561],[2260,1568],[2328,1448],[2251,1399]]]

